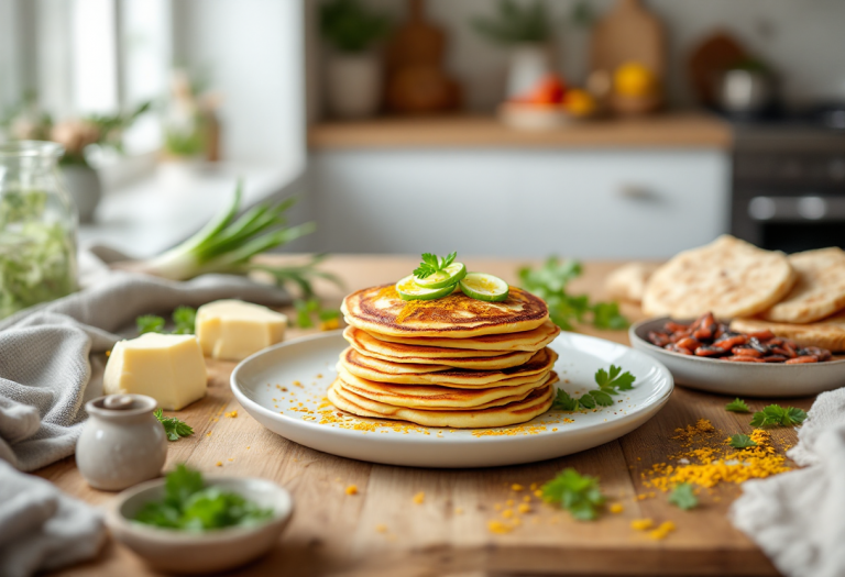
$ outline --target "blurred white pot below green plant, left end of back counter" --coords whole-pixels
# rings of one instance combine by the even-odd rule
[[[360,119],[378,112],[382,66],[377,54],[333,54],[326,73],[327,99],[332,115]]]

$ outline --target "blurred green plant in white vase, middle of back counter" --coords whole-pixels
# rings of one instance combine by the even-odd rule
[[[478,16],[471,23],[481,36],[509,51],[508,99],[530,91],[552,71],[551,26],[542,0],[501,0],[494,14]]]

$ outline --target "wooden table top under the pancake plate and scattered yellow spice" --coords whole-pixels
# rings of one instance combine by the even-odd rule
[[[323,268],[338,273],[350,290],[393,281],[418,260],[410,257],[332,257]],[[515,281],[516,260],[467,259],[471,269]],[[602,280],[612,263],[586,263],[584,276],[572,282],[573,292],[600,298]],[[330,302],[341,292],[328,289]],[[638,319],[637,309],[624,309]],[[600,332],[627,344],[625,331]],[[292,330],[290,337],[301,334]],[[266,557],[238,575],[778,575],[751,541],[726,518],[738,486],[716,488],[702,503],[684,512],[668,504],[666,495],[638,500],[651,489],[640,473],[666,461],[677,445],[677,428],[709,419],[723,431],[748,433],[748,415],[724,410],[731,400],[676,388],[668,404],[633,433],[596,448],[562,458],[487,469],[419,469],[392,467],[336,457],[286,441],[261,426],[241,409],[229,388],[234,363],[209,360],[208,396],[178,417],[196,434],[171,443],[167,467],[176,463],[210,475],[257,476],[277,481],[294,497],[295,512],[283,539]],[[812,398],[790,400],[809,409]],[[765,401],[753,400],[753,407]],[[224,412],[238,411],[237,418]],[[779,443],[792,444],[792,429],[772,431]],[[222,462],[222,467],[216,466]],[[603,513],[597,521],[579,522],[568,513],[533,500],[523,524],[507,534],[494,534],[489,521],[500,519],[496,503],[520,499],[512,484],[542,484],[564,467],[597,475],[605,495],[619,502],[619,514]],[[113,493],[87,486],[74,458],[37,471],[68,493],[107,506]],[[356,485],[360,492],[345,493]],[[414,496],[425,493],[420,504]],[[677,525],[662,541],[630,529],[634,519],[671,520]],[[380,526],[383,525],[383,526]],[[99,557],[61,575],[140,577],[155,575],[131,552],[109,542]]]

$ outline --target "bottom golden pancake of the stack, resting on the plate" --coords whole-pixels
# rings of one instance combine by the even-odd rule
[[[524,423],[545,413],[551,408],[552,387],[534,389],[520,401],[469,411],[427,411],[394,407],[344,390],[337,380],[329,387],[328,396],[334,407],[358,417],[409,421],[422,426],[486,429]]]

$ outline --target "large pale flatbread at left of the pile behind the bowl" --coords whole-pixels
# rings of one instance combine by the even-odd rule
[[[795,282],[783,253],[762,251],[731,235],[684,251],[661,266],[646,286],[643,310],[654,317],[751,317],[780,301]]]

